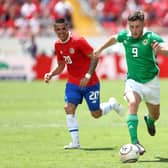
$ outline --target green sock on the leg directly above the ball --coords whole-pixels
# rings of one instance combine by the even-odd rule
[[[137,128],[138,128],[138,117],[136,114],[129,114],[127,116],[128,131],[131,138],[131,143],[138,143]]]

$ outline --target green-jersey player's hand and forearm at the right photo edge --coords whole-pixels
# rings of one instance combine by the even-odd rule
[[[168,44],[158,43],[157,41],[154,41],[152,44],[152,48],[155,50],[156,53],[168,56]]]

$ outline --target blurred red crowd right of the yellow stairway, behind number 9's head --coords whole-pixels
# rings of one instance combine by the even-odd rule
[[[125,27],[135,9],[145,11],[147,26],[168,27],[168,0],[86,0],[93,16],[105,28]]]

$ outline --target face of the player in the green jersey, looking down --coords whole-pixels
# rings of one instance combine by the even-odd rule
[[[140,20],[136,21],[129,21],[128,22],[129,29],[131,31],[131,35],[133,38],[137,39],[142,36],[143,28],[144,28],[144,22]]]

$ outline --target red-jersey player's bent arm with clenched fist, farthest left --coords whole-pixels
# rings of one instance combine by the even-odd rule
[[[64,67],[64,61],[59,61],[57,66],[53,70],[44,75],[44,81],[48,83],[53,76],[60,74],[64,70]]]

